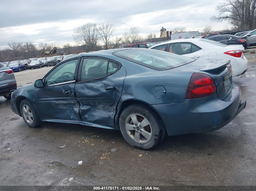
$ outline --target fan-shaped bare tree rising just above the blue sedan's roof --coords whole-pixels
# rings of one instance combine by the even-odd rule
[[[113,36],[114,32],[115,27],[113,26],[113,24],[106,23],[98,26],[99,38],[106,46],[106,49],[108,49],[109,40]]]

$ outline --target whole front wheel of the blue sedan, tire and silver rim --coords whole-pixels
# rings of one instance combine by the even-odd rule
[[[34,107],[28,100],[22,100],[20,103],[20,112],[25,123],[30,127],[41,125],[41,120],[35,111]]]

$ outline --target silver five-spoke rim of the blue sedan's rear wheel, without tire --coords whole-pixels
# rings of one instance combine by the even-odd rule
[[[130,138],[137,143],[146,143],[152,138],[151,124],[141,114],[130,114],[125,119],[125,129]]]

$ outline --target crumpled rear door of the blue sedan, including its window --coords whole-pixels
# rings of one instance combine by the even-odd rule
[[[120,63],[100,57],[83,58],[75,85],[82,121],[114,126],[125,76]]]

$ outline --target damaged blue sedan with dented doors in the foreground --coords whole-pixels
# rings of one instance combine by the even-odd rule
[[[229,60],[132,48],[73,56],[11,100],[30,127],[48,121],[117,129],[141,149],[153,148],[165,133],[220,129],[245,106]]]

